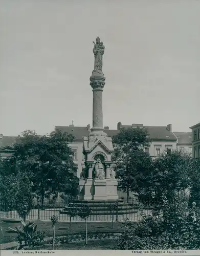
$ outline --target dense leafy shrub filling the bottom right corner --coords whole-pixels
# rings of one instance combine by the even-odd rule
[[[119,249],[200,249],[200,211],[188,198],[163,200],[152,216],[137,225],[126,223]]]

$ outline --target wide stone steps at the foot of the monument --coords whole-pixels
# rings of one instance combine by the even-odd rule
[[[110,211],[110,205],[116,205],[112,211]],[[60,214],[68,214],[69,209],[71,207],[76,206],[77,208],[81,208],[84,205],[87,205],[91,208],[91,215],[124,215],[124,214],[134,214],[138,210],[134,209],[134,207],[129,206],[123,200],[74,200],[68,206],[65,206]]]

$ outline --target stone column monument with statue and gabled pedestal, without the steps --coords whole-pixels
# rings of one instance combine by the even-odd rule
[[[84,137],[85,168],[79,181],[79,200],[118,200],[117,180],[112,169],[112,138],[103,129],[102,92],[105,77],[102,71],[105,47],[100,38],[94,42],[94,70],[90,77],[93,89],[93,127]]]

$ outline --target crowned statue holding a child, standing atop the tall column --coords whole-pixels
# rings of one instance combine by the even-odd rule
[[[103,67],[103,54],[105,47],[103,45],[103,42],[100,42],[100,38],[96,38],[96,44],[94,43],[93,53],[95,55],[95,68],[94,70],[102,73],[102,67]]]

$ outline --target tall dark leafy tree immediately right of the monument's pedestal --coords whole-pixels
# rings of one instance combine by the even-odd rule
[[[128,200],[129,190],[138,193],[141,191],[140,187],[148,182],[144,176],[151,172],[152,161],[144,148],[150,146],[149,135],[140,127],[122,128],[113,137],[113,143],[116,144],[113,160],[116,163],[118,186],[127,192]]]

